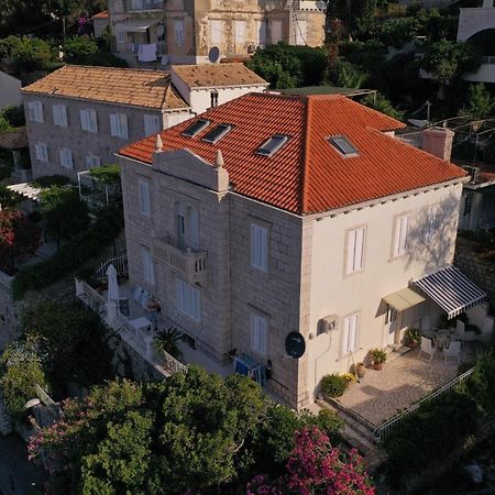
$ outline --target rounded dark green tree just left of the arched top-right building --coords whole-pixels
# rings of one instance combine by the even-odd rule
[[[432,74],[442,85],[450,84],[466,72],[476,70],[480,56],[469,43],[442,38],[426,45],[420,67]]]

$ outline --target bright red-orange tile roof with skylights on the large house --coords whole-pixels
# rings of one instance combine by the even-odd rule
[[[250,94],[200,118],[234,128],[210,144],[201,136],[211,124],[195,138],[182,135],[191,119],[161,133],[164,151],[187,147],[213,164],[221,150],[237,193],[296,213],[332,210],[465,176],[450,162],[381,132],[404,127],[399,121],[338,95]],[[256,154],[276,133],[290,139],[271,157]],[[331,135],[345,135],[358,156],[342,156],[328,142]],[[119,153],[151,164],[154,145],[150,136]]]

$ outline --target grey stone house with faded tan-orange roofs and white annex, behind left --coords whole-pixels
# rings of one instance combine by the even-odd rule
[[[114,163],[127,143],[267,87],[242,64],[211,66],[201,80],[207,87],[163,70],[67,65],[23,88],[33,176],[76,180],[78,172]]]

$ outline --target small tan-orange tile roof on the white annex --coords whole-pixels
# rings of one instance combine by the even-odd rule
[[[170,69],[189,87],[211,86],[268,86],[265,79],[244,64],[173,65]]]

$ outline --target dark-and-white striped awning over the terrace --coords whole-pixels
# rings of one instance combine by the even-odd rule
[[[437,302],[447,312],[448,319],[486,299],[486,294],[454,266],[416,278],[411,283]]]

